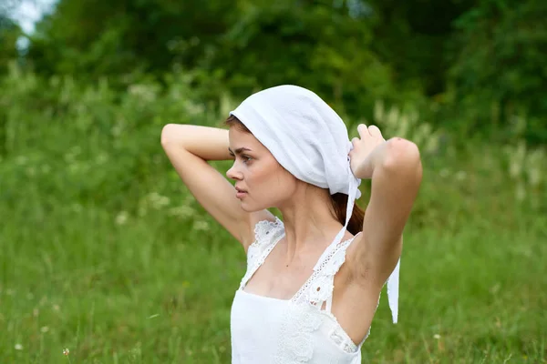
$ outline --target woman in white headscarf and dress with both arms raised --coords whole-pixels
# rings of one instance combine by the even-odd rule
[[[418,147],[363,124],[350,142],[335,111],[298,86],[249,96],[226,124],[168,125],[161,143],[247,253],[232,303],[232,363],[360,363],[390,275],[397,290],[402,232],[422,176]],[[235,186],[207,163],[232,158],[226,175]],[[368,178],[365,214],[354,202]]]

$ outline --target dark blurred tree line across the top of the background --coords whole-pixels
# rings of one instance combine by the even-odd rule
[[[2,72],[21,34],[7,19]],[[370,119],[380,99],[463,134],[537,144],[545,19],[544,0],[58,0],[19,61],[42,76],[107,76],[120,91],[188,73],[213,103],[297,84],[343,116]]]

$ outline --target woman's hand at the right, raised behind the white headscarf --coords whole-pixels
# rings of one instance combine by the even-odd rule
[[[359,124],[357,126],[359,137],[351,139],[353,149],[349,152],[351,170],[355,177],[369,179],[372,177],[373,163],[372,152],[377,146],[384,144],[386,139],[377,126]]]

